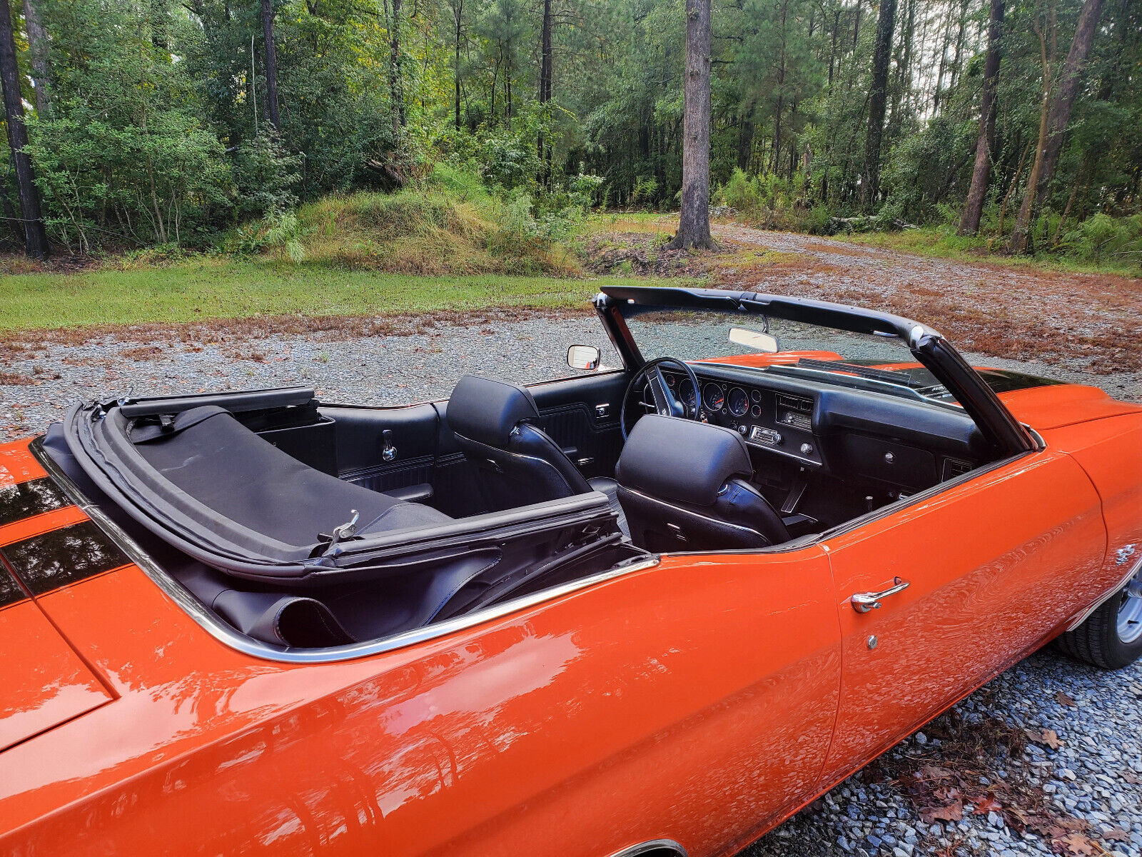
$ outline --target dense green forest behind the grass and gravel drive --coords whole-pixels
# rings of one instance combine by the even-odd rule
[[[1137,255],[1137,0],[0,0],[0,239],[207,247],[440,162],[676,209],[702,6],[714,205]]]

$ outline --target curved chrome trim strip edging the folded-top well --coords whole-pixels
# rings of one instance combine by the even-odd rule
[[[368,642],[352,643],[349,646],[336,646],[328,649],[279,648],[240,633],[207,610],[207,608],[190,592],[187,592],[182,584],[175,580],[153,559],[151,559],[151,556],[142,547],[139,547],[138,544],[136,544],[135,539],[123,532],[119,524],[112,521],[103,512],[103,510],[94,505],[91,500],[89,500],[83,492],[79,490],[67,474],[61,470],[59,465],[57,465],[55,460],[53,460],[51,457],[43,451],[41,440],[42,438],[37,438],[29,444],[29,450],[35,459],[56,481],[64,494],[66,494],[77,506],[79,506],[93,521],[95,521],[95,523],[103,529],[104,532],[111,536],[111,538],[118,543],[118,545],[131,559],[131,561],[135,562],[136,566],[143,569],[143,574],[150,577],[160,590],[162,590],[175,603],[177,603],[192,619],[201,625],[202,628],[216,640],[230,646],[232,649],[241,651],[243,655],[262,658],[264,660],[276,660],[283,664],[329,664],[338,660],[351,660],[354,658],[368,657],[370,655],[380,655],[386,651],[394,651],[407,646],[415,646],[428,640],[434,640],[439,636],[455,633],[457,631],[463,631],[484,622],[491,622],[492,619],[498,619],[502,616],[507,616],[508,614],[516,612],[517,610],[525,610],[529,607],[534,607],[544,603],[545,601],[550,601],[552,599],[561,598],[572,592],[578,592],[579,590],[585,590],[588,586],[594,586],[598,583],[613,580],[617,577],[622,577],[624,575],[632,574],[634,571],[653,568],[660,560],[659,555],[656,554],[649,559],[611,568],[606,571],[601,571],[597,575],[592,575],[590,577],[572,580],[571,583],[563,584],[562,586],[553,586],[549,590],[542,590],[541,592],[537,592],[531,595],[524,595],[522,598],[513,599],[512,601],[505,601],[501,604],[488,607],[466,616],[457,616],[453,619],[440,622],[434,625],[412,628],[411,631],[394,634],[393,636],[381,640],[370,640]]]

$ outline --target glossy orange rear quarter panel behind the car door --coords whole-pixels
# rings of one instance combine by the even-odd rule
[[[118,698],[0,754],[0,852],[724,851],[815,791],[835,720],[827,560],[770,562],[667,559],[315,666],[228,649],[135,566],[50,592]]]

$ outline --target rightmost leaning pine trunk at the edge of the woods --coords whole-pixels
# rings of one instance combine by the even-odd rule
[[[1094,32],[1102,13],[1102,0],[1086,0],[1078,16],[1075,38],[1063,64],[1059,81],[1059,90],[1054,98],[1048,98],[1049,87],[1044,86],[1043,113],[1039,122],[1039,142],[1035,151],[1035,162],[1031,165],[1031,176],[1023,194],[1023,205],[1019,208],[1015,231],[1011,237],[1012,253],[1030,253],[1031,225],[1038,218],[1039,207],[1046,195],[1047,186],[1054,176],[1059,163],[1059,152],[1062,149],[1063,131],[1070,119],[1070,111],[1078,95],[1079,77],[1086,64],[1086,55],[1094,41]]]

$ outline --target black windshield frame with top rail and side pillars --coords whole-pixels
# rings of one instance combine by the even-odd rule
[[[894,336],[903,341],[916,360],[956,398],[983,436],[995,447],[997,456],[1007,457],[1040,448],[1031,432],[1012,416],[995,391],[968,366],[951,343],[926,325],[901,315],[759,291],[658,286],[606,286],[593,303],[611,342],[632,371],[641,368],[646,360],[624,317],[624,307],[630,306],[646,307],[646,311],[676,307],[740,312],[854,334]]]

